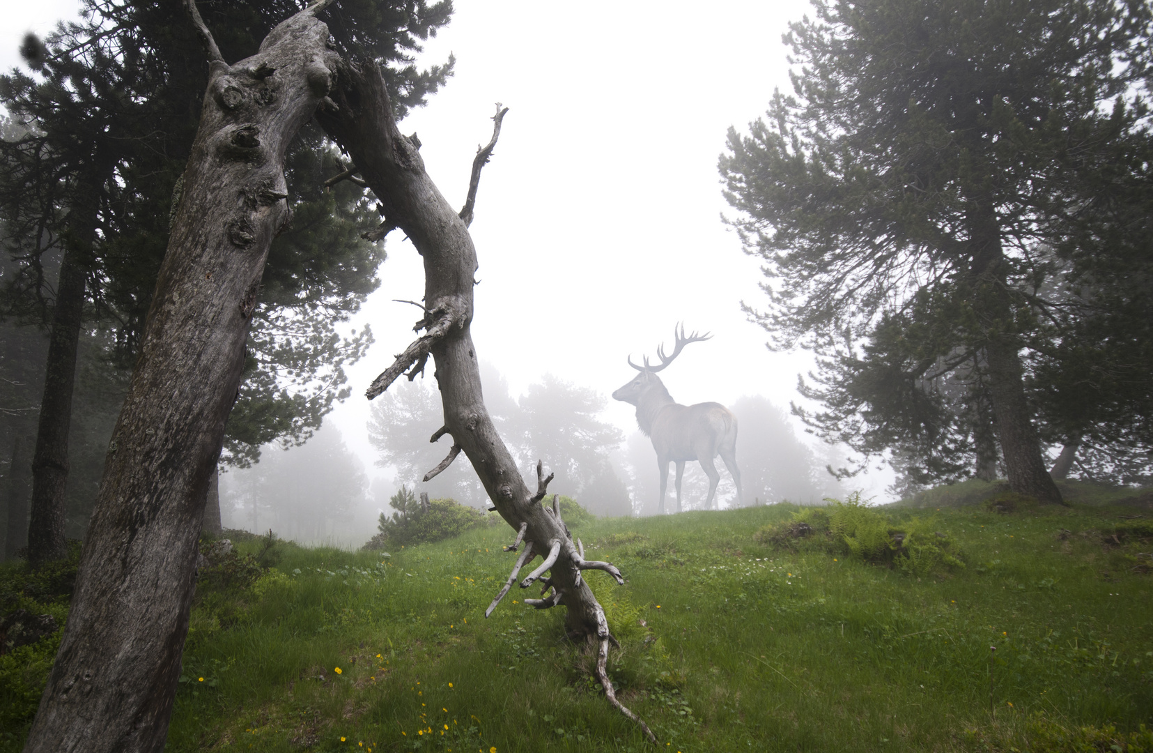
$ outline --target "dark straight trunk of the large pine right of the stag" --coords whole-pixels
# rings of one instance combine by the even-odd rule
[[[1019,342],[1007,285],[1005,258],[996,209],[987,197],[972,199],[969,214],[972,244],[973,309],[984,329],[989,398],[996,416],[1005,473],[1012,490],[1042,503],[1063,504],[1045,459],[1025,400]]]

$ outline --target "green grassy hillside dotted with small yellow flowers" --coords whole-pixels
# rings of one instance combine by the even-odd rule
[[[890,510],[892,527],[941,533],[965,563],[917,577],[831,540],[768,535],[796,511],[574,532],[625,573],[623,587],[589,580],[624,646],[611,676],[662,747],[1153,750],[1147,512]],[[217,568],[199,586],[168,750],[651,750],[563,639],[562,608],[526,608],[529,589],[484,619],[511,536],[475,530],[389,559],[280,543],[256,563],[271,570]],[[23,575],[3,578],[10,592]],[[35,695],[52,642],[0,657],[0,705]]]

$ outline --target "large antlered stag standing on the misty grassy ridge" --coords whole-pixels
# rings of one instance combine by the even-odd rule
[[[672,355],[665,356],[664,345],[657,348],[661,359],[658,366],[650,366],[645,356],[645,366],[628,366],[640,374],[636,378],[612,393],[613,400],[630,402],[636,406],[636,423],[641,431],[653,440],[656,450],[656,465],[661,469],[661,514],[664,514],[664,491],[669,485],[669,462],[677,464],[677,512],[680,512],[680,480],[685,473],[685,462],[696,460],[709,476],[709,499],[707,507],[713,509],[713,497],[716,495],[721,474],[713,459],[721,455],[737,484],[737,502],[741,500],[740,469],[737,468],[737,417],[719,402],[698,402],[680,405],[672,399],[664,384],[656,375],[676,359],[689,342],[709,339],[709,334],[693,332],[685,337],[685,327],[673,330],[677,345]]]

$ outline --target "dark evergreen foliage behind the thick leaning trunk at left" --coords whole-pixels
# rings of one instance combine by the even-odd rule
[[[227,60],[256,52],[269,30],[302,3],[199,3]],[[46,44],[25,43],[38,70],[0,77],[15,138],[0,144],[5,251],[20,262],[3,280],[2,310],[47,323],[54,273],[71,243],[86,278],[86,316],[111,322],[115,360],[129,367],[167,246],[180,178],[208,83],[201,42],[180,0],[85,0],[84,20]],[[423,104],[451,74],[419,70],[421,40],[447,23],[451,2],[353,0],[326,12],[332,42],[385,71],[398,116]],[[189,61],[193,61],[189,65]],[[376,212],[364,190],[326,178],[342,172],[336,148],[304,128],[286,179],[293,220],[270,251],[254,314],[247,379],[229,419],[226,458],[241,465],[261,443],[300,442],[341,392],[342,364],[371,342],[336,326],[375,286],[384,259],[362,238]]]

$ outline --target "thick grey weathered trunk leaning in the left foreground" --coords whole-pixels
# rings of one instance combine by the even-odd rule
[[[141,356],[25,752],[164,747],[209,477],[265,256],[288,219],[285,150],[336,73],[315,12],[278,25],[256,55],[211,63]]]

